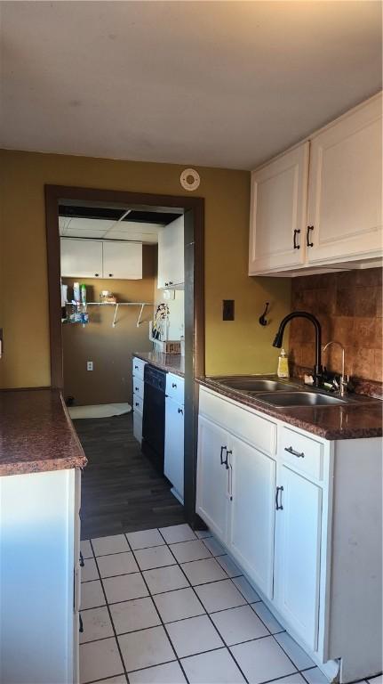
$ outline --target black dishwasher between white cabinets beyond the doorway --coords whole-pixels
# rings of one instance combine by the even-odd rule
[[[142,453],[164,474],[166,373],[149,363],[144,368]]]

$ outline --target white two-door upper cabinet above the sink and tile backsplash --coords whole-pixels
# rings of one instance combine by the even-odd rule
[[[381,159],[378,94],[253,171],[249,275],[379,265]]]

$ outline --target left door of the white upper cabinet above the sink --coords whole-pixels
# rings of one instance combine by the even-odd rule
[[[305,262],[308,142],[251,174],[249,275]]]

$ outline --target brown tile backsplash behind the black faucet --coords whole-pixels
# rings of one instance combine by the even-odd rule
[[[355,378],[383,380],[382,269],[324,273],[293,278],[291,310],[303,309],[321,322],[323,345],[331,339],[345,346],[345,371]],[[291,321],[290,357],[293,366],[312,368],[314,327],[304,319]],[[331,345],[323,365],[341,370],[341,350]]]

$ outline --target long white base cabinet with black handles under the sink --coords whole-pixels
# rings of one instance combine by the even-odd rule
[[[341,684],[382,671],[381,451],[381,438],[330,442],[200,387],[196,512]]]

